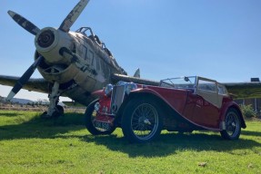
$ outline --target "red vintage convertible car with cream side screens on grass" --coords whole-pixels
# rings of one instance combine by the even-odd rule
[[[94,94],[99,99],[85,111],[86,128],[94,135],[110,134],[120,127],[130,142],[147,142],[162,130],[209,130],[236,140],[241,128],[246,128],[226,87],[203,77],[166,79],[159,86],[117,82]]]

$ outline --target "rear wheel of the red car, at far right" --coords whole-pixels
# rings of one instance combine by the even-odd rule
[[[239,138],[241,133],[241,121],[235,109],[226,111],[225,127],[225,130],[220,131],[222,138],[226,140],[237,140]]]

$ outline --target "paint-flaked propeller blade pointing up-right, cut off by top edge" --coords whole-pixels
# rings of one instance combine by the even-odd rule
[[[81,0],[77,5],[75,5],[75,8],[65,17],[65,20],[60,25],[59,29],[64,32],[69,32],[71,26],[75,23],[78,16],[84,11],[88,2],[89,0]]]

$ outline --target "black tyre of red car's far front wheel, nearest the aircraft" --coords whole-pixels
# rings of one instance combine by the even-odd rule
[[[115,127],[112,127],[111,130],[107,131],[101,128],[97,128],[94,125],[96,111],[95,111],[95,103],[98,100],[90,103],[85,111],[85,126],[87,130],[93,135],[108,135],[115,131]]]

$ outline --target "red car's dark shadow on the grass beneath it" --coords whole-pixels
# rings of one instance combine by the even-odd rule
[[[212,150],[230,153],[231,150],[245,151],[261,145],[255,140],[223,140],[220,135],[208,135],[200,132],[184,135],[176,133],[161,134],[157,140],[146,144],[129,143],[125,138],[118,138],[115,134],[96,137],[86,135],[82,137],[82,140],[94,142],[96,145],[104,145],[109,150],[124,152],[131,158],[141,156],[147,158],[165,157],[186,150]]]

